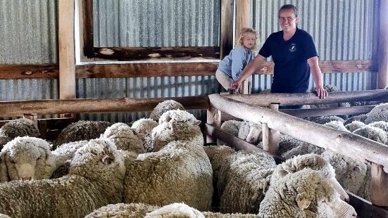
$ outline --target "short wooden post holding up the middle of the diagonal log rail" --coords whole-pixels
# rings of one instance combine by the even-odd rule
[[[279,110],[279,103],[271,103],[269,107],[271,110]],[[268,124],[263,123],[262,127],[263,134],[263,150],[268,151],[269,153],[276,155],[277,150],[279,150],[279,139],[280,132],[277,132],[275,129],[270,129]]]

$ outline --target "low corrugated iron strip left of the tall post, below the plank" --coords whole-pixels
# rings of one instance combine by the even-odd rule
[[[58,99],[57,79],[0,79],[0,101]],[[39,116],[49,118],[51,115]],[[12,120],[16,117],[0,117]]]

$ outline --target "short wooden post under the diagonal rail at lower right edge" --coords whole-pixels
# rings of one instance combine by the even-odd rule
[[[388,207],[388,174],[382,165],[372,162],[372,181],[370,202],[377,206]]]

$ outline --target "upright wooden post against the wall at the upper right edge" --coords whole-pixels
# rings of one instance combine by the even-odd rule
[[[388,0],[380,0],[379,72],[377,89],[388,86]]]

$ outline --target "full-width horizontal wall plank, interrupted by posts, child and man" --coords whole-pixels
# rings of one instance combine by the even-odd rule
[[[87,1],[87,0],[84,0]],[[90,60],[90,59],[88,59]],[[328,65],[356,65],[358,60],[329,61]],[[372,60],[365,60],[372,63]],[[324,61],[320,61],[324,63]],[[125,64],[88,64],[76,66],[76,78],[111,77],[163,77],[163,76],[199,76],[214,75],[218,63],[125,63]],[[366,65],[362,65],[366,66]],[[183,68],[183,70],[180,70]],[[193,69],[193,70],[191,70]],[[332,69],[321,67],[325,73]],[[338,72],[349,72],[349,68],[337,68]],[[353,72],[369,71],[361,68]],[[256,74],[273,74],[273,63],[265,62]],[[0,65],[0,79],[58,79],[59,69],[55,64],[42,65]]]

